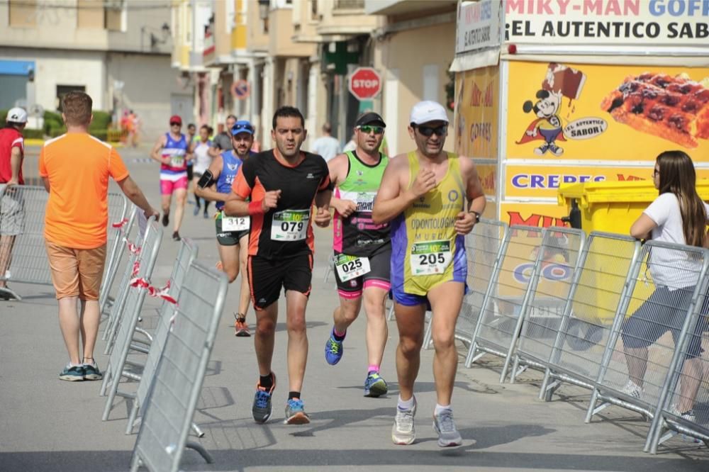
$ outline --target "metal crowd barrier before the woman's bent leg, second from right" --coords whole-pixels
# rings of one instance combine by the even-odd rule
[[[586,422],[608,405],[654,416],[666,396],[671,359],[679,352],[674,338],[686,337],[691,321],[687,313],[700,296],[709,251],[649,241],[634,265],[594,382]],[[664,336],[669,332],[671,336]],[[631,388],[632,380],[642,391]],[[596,406],[598,400],[603,403]]]

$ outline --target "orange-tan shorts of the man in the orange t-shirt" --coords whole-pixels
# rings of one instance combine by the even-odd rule
[[[57,299],[76,297],[98,300],[104,276],[106,245],[95,249],[72,249],[45,241]]]

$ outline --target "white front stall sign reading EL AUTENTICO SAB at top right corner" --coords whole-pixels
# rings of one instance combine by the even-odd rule
[[[507,0],[505,38],[518,44],[705,46],[707,0]]]

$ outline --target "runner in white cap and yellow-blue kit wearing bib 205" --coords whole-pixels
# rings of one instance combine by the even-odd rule
[[[485,209],[485,195],[472,160],[443,150],[445,108],[419,102],[409,122],[417,149],[391,159],[372,213],[374,223],[391,221],[391,291],[399,330],[399,398],[391,439],[395,444],[415,440],[413,384],[430,305],[437,398],[433,428],[439,446],[459,446],[462,438],[450,407],[458,364],[454,331],[466,288],[464,236]]]

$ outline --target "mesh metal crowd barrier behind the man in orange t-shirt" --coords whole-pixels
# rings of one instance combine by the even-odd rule
[[[45,208],[48,198],[49,193],[44,186],[18,185],[9,189],[3,186],[0,189],[0,215],[3,218],[0,229],[8,232],[6,228],[9,227],[8,234],[17,233],[11,248],[9,271],[0,274],[0,280],[52,285],[44,237]],[[108,192],[106,248],[111,251],[116,238],[116,233],[111,230],[111,223],[123,220],[127,210],[128,201],[123,194]],[[18,294],[12,293],[21,299]]]

